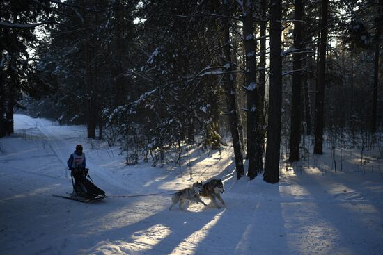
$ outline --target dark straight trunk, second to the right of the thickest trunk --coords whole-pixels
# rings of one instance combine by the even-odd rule
[[[327,45],[327,9],[329,1],[322,0],[321,32],[319,44],[318,88],[315,97],[315,142],[314,154],[323,153],[323,119],[325,108],[325,72],[326,72],[326,45]]]

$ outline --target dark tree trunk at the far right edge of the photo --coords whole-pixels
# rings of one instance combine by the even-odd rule
[[[380,55],[380,34],[382,33],[382,13],[383,13],[383,0],[379,0],[377,6],[378,18],[376,24],[375,35],[375,63],[374,63],[374,88],[373,88],[373,113],[371,116],[371,132],[376,132],[377,126],[377,87],[379,83],[379,55]]]

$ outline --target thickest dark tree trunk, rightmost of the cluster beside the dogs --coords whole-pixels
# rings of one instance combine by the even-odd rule
[[[267,147],[263,180],[268,183],[279,181],[279,156],[281,145],[282,107],[282,57],[281,57],[281,17],[282,3],[270,1],[270,92],[269,120],[267,123]]]

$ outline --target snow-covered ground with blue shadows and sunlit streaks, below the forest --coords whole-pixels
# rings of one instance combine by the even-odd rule
[[[107,195],[218,177],[226,206],[169,211],[169,195],[92,204],[52,197],[72,191],[66,161],[78,143]],[[0,254],[383,254],[382,159],[361,167],[357,151],[345,150],[335,172],[327,151],[283,167],[272,185],[260,176],[236,181],[230,151],[193,154],[192,175],[186,165],[127,166],[118,148],[87,140],[84,126],[15,115],[15,134],[0,139]]]

